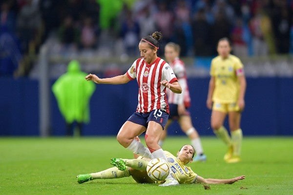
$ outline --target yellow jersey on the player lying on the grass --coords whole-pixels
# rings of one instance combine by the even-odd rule
[[[185,166],[181,160],[172,155],[168,151],[164,151],[167,156],[167,161],[170,165],[170,171],[179,183],[194,183],[197,174],[190,167]]]

